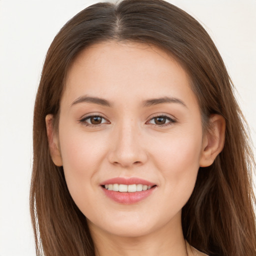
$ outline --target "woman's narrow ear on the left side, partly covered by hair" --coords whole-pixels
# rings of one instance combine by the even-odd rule
[[[45,122],[51,159],[55,165],[62,166],[62,158],[59,150],[58,138],[55,134],[56,132],[54,132],[53,127],[53,115],[47,114],[45,117]]]

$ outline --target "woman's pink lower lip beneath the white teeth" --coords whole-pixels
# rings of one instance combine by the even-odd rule
[[[110,199],[114,200],[115,202],[123,203],[123,204],[132,204],[132,203],[139,202],[145,199],[146,197],[148,197],[155,189],[155,186],[145,191],[137,191],[137,192],[112,191],[112,190],[107,190],[103,187],[102,189],[105,195],[108,196]]]

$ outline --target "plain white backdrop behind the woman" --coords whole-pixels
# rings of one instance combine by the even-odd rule
[[[0,256],[35,255],[29,216],[32,112],[45,53],[96,0],[0,0]],[[256,144],[256,0],[169,0],[201,22],[236,86]]]

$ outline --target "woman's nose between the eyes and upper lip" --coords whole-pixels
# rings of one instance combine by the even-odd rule
[[[126,123],[116,127],[113,133],[111,150],[108,153],[109,162],[125,168],[145,163],[147,153],[139,127]]]

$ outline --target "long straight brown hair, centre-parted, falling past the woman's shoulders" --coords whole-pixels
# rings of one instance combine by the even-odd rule
[[[256,255],[254,161],[232,82],[204,28],[163,0],[93,4],[70,19],[48,49],[33,122],[30,211],[37,255],[94,255],[86,218],[68,192],[63,168],[51,160],[45,116],[53,114],[57,127],[70,62],[85,47],[106,40],[138,41],[166,50],[189,74],[203,120],[211,113],[225,118],[224,148],[212,165],[199,168],[193,193],[182,209],[183,235],[207,254]]]

